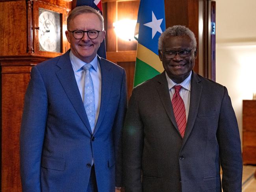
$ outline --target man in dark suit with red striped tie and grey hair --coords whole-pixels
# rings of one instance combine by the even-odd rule
[[[125,191],[241,192],[241,143],[226,87],[193,72],[197,42],[188,28],[168,28],[158,49],[165,71],[137,86],[128,104]]]

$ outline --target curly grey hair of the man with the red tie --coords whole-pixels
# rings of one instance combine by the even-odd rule
[[[165,37],[167,35],[171,35],[171,36],[183,36],[183,35],[187,35],[190,37],[190,39],[192,40],[192,46],[193,48],[195,48],[197,46],[197,40],[195,38],[195,34],[193,33],[193,31],[191,31],[189,28],[187,28],[186,26],[182,26],[182,25],[174,25],[172,27],[167,28],[165,31],[163,31],[163,33],[160,35],[159,39],[158,39],[158,50],[162,50],[162,46],[163,46],[163,41],[165,39]]]

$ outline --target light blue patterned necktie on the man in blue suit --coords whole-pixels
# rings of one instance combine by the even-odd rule
[[[90,68],[92,65],[86,63],[83,66],[84,70],[84,98],[83,105],[89,120],[91,131],[94,131],[95,126],[95,102],[94,102],[94,89],[93,89],[93,79],[91,78]]]

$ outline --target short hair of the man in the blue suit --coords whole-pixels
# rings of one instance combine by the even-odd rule
[[[74,19],[76,16],[81,15],[83,13],[95,13],[98,16],[98,18],[100,19],[100,22],[102,24],[102,30],[104,30],[104,18],[102,17],[100,11],[93,9],[93,7],[90,7],[90,6],[78,6],[69,12],[69,16],[67,18],[67,29],[68,30],[69,30],[70,21],[72,19]]]

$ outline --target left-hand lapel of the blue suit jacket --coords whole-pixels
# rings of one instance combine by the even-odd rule
[[[72,64],[70,62],[69,51],[60,57],[57,66],[59,66],[60,70],[56,72],[56,75],[63,89],[86,128],[92,134],[91,127],[83,107],[83,101],[76,83],[76,78],[74,76],[74,70],[72,69]]]

